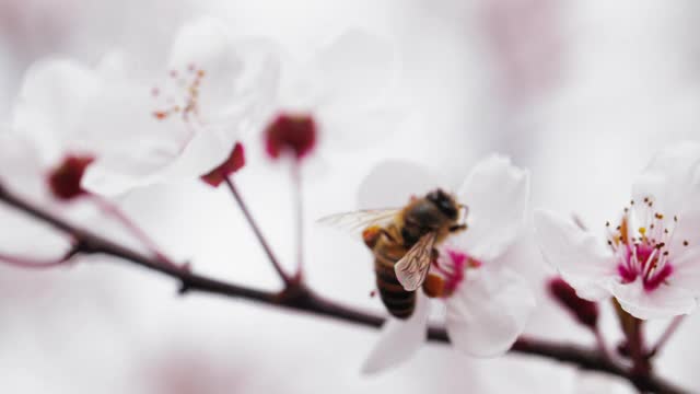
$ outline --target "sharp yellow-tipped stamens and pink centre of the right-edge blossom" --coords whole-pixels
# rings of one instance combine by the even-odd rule
[[[630,201],[626,207],[620,225],[611,228],[605,223],[608,232],[608,245],[612,248],[618,264],[618,273],[623,283],[642,279],[648,291],[658,288],[673,273],[669,246],[678,217],[666,218],[654,210],[654,201],[646,197],[641,209]],[[638,202],[640,204],[640,202]],[[635,208],[634,213],[632,209]],[[682,242],[688,246],[688,241]]]

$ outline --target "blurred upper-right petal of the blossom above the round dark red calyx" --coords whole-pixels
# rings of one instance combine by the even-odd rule
[[[366,32],[349,31],[320,50],[310,68],[332,101],[326,104],[345,107],[382,99],[398,63],[388,43]]]

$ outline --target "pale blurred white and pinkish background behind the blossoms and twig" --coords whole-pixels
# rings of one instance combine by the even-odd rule
[[[575,212],[602,230],[656,149],[700,137],[699,11],[692,0],[0,0],[0,121],[34,60],[67,55],[94,63],[114,46],[158,56],[182,22],[200,14],[302,55],[349,27],[385,37],[401,59],[392,94],[410,106],[406,121],[361,150],[322,144],[304,169],[311,286],[382,311],[369,296],[370,253],[315,219],[353,209],[359,183],[383,159],[417,160],[458,185],[476,161],[502,152],[532,171],[535,207]],[[261,139],[247,149],[240,188],[291,269],[287,166],[265,158]],[[131,194],[125,208],[195,269],[278,288],[225,190],[196,182],[149,187]],[[0,224],[0,231],[11,229]],[[593,344],[547,298],[544,279],[551,271],[532,242],[513,253],[523,255],[523,273],[540,298],[527,333]],[[176,290],[172,280],[106,258],[49,271],[0,265],[0,391],[631,392],[622,381],[544,359],[474,360],[440,345],[387,373],[362,376],[376,331],[241,300],[177,297]],[[617,323],[604,312],[615,343]],[[665,324],[652,322],[650,336]],[[687,318],[657,360],[660,373],[693,391],[700,391],[698,329],[698,317]]]

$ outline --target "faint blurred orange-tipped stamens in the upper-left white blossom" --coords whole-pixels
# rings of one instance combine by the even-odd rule
[[[165,100],[165,105],[153,112],[159,120],[165,120],[175,115],[182,115],[183,120],[190,121],[190,117],[198,120],[199,116],[199,88],[205,78],[205,70],[189,65],[185,72],[171,70],[168,81],[173,81],[175,89],[166,83],[167,91],[162,88],[153,88],[151,95],[158,100]]]

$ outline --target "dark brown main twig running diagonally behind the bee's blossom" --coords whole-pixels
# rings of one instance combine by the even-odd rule
[[[144,256],[139,252],[114,243],[91,231],[77,228],[62,219],[23,200],[11,194],[0,185],[0,200],[27,213],[35,219],[44,221],[57,230],[72,235],[78,241],[78,253],[101,253],[119,257],[143,268],[159,271],[180,282],[180,293],[192,291],[207,292],[232,298],[242,298],[261,304],[312,313],[315,315],[331,317],[352,324],[378,328],[384,324],[384,317],[359,311],[352,308],[324,299],[306,288],[302,282],[290,282],[282,292],[275,293],[261,291],[248,287],[242,287],[218,279],[194,274],[187,269],[178,269],[170,265],[163,265],[153,257]],[[442,327],[431,327],[428,339],[436,343],[448,343],[447,333]],[[512,347],[511,352],[528,356],[540,356],[551,360],[571,363],[581,369],[604,372],[627,379],[640,392],[655,393],[687,393],[669,382],[653,374],[640,375],[607,359],[600,351],[576,345],[558,344],[542,339],[521,338]]]

